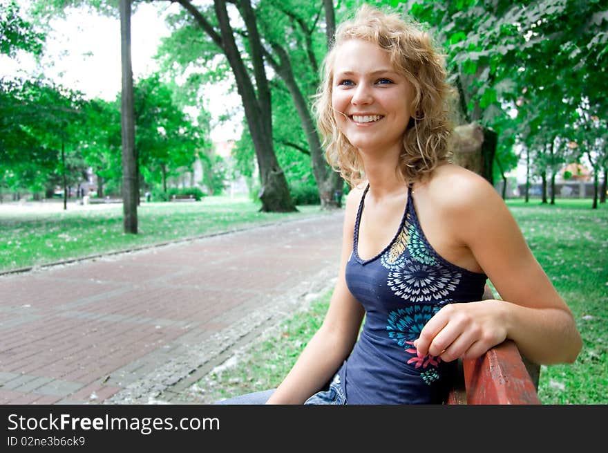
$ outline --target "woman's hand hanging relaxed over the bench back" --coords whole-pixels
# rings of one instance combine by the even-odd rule
[[[419,357],[427,354],[449,362],[474,359],[506,340],[504,302],[489,299],[448,304],[426,323],[414,342]]]

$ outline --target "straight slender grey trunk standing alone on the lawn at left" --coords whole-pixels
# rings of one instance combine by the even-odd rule
[[[124,232],[137,234],[137,158],[133,118],[133,71],[131,69],[131,0],[120,0],[122,55],[122,211]]]

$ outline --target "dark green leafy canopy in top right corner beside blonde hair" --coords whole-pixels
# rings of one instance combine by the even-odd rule
[[[575,109],[583,98],[605,111],[602,63],[606,6],[576,0],[408,1],[445,43],[464,121],[495,126],[525,91]],[[547,89],[556,85],[560,89]],[[544,91],[547,89],[546,91]],[[543,91],[543,93],[540,93]],[[528,96],[526,95],[526,97]],[[561,110],[561,109],[560,109]],[[605,115],[600,115],[605,118]],[[501,131],[494,127],[501,139]],[[555,134],[548,134],[555,136]]]

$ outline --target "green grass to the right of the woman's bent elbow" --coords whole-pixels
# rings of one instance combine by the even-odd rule
[[[541,367],[547,404],[608,403],[608,206],[589,200],[507,204],[553,285],[576,317],[583,347],[574,364]]]

